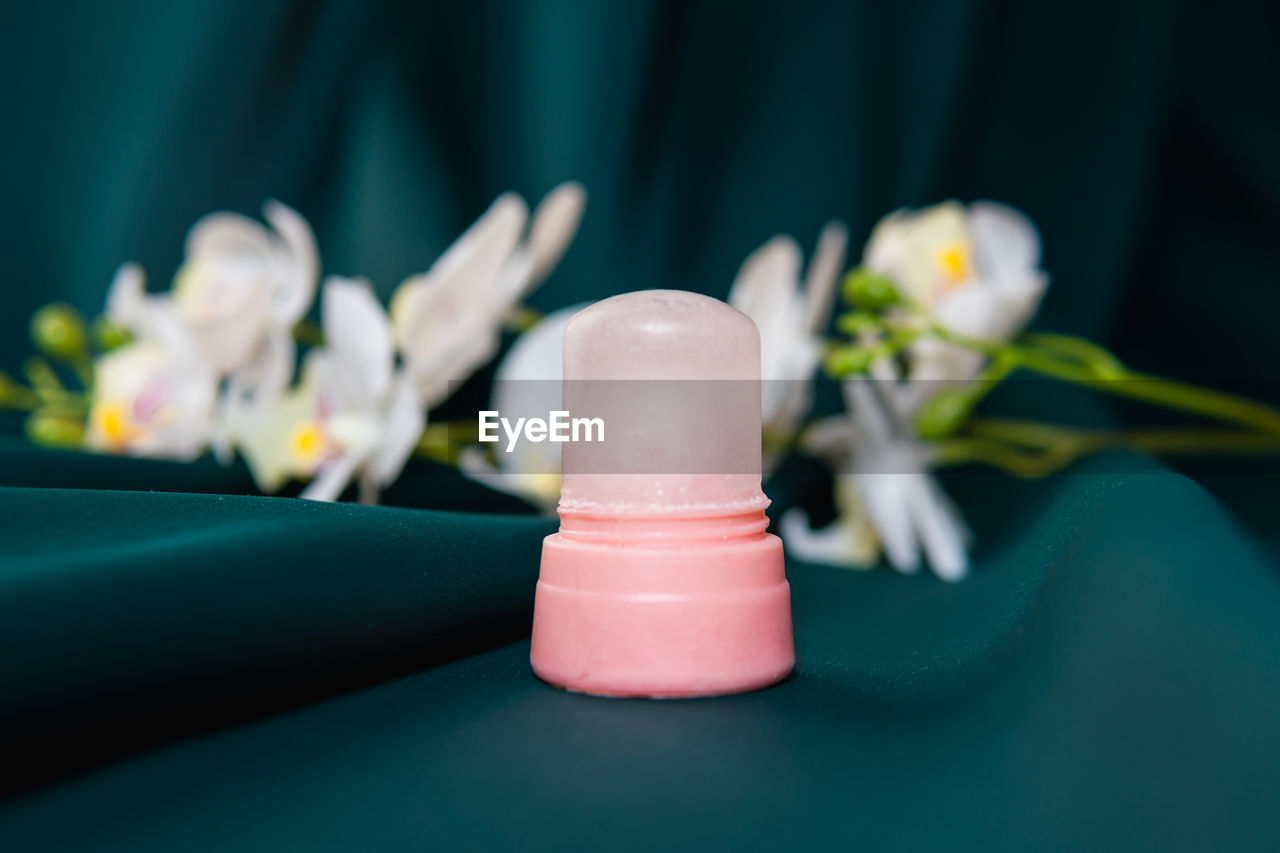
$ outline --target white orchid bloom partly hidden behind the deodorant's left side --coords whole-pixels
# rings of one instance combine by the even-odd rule
[[[545,418],[559,406],[564,373],[564,327],[589,302],[548,314],[530,327],[503,356],[494,374],[494,410],[503,418]],[[462,452],[463,474],[485,485],[525,498],[544,512],[559,502],[561,446],[556,442],[517,442],[507,451],[494,444],[493,465],[476,447]]]

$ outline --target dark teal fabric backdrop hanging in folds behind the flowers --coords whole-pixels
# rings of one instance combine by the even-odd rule
[[[497,193],[577,178],[590,214],[538,307],[722,296],[780,231],[991,197],[1042,228],[1042,325],[1158,329],[1153,369],[1201,329],[1206,375],[1247,374],[1274,352],[1280,119],[1274,15],[1236,5],[22,4],[0,364],[40,304],[99,310],[123,260],[163,287],[210,210],[279,197],[328,272],[387,295]]]

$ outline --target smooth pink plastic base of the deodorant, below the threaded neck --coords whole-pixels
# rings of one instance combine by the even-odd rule
[[[609,697],[780,681],[795,666],[782,542],[759,533],[637,547],[549,535],[530,658],[544,681]]]

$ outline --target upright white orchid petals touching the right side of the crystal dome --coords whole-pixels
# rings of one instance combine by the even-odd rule
[[[847,237],[838,222],[822,229],[801,284],[800,246],[780,234],[742,263],[730,289],[728,304],[760,329],[760,402],[767,433],[790,435],[809,409]]]

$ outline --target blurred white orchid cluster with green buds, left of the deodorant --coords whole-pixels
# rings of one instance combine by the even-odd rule
[[[264,492],[310,480],[301,497],[334,501],[351,483],[376,502],[419,444],[426,411],[498,350],[503,323],[556,266],[582,216],[576,183],[530,214],[500,196],[425,273],[404,280],[390,311],[362,279],[319,287],[321,328],[303,321],[320,261],[310,225],[268,202],[270,228],[212,214],[187,236],[168,293],[150,295],[125,264],[95,324],[65,305],[42,309],[29,387],[0,386],[28,409],[40,443],[188,460],[238,451]],[[296,337],[312,345],[296,373]],[[96,353],[95,353],[96,351]],[[64,387],[67,365],[82,391]]]

